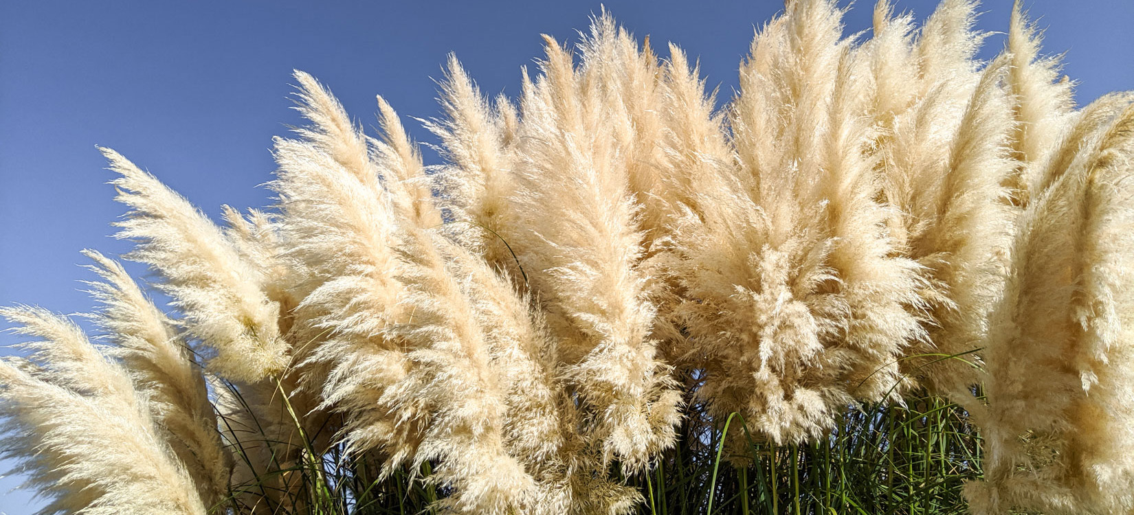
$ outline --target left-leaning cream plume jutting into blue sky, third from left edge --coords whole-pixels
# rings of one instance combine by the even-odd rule
[[[262,278],[204,214],[153,175],[109,148],[121,177],[111,183],[130,207],[118,238],[137,240],[130,259],[161,274],[158,287],[185,315],[186,329],[215,355],[218,375],[254,381],[280,372],[288,349],[277,325],[279,303],[266,298]]]

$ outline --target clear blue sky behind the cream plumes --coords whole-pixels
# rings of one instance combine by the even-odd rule
[[[844,2],[845,3],[845,2]],[[919,17],[936,1],[899,0]],[[985,0],[979,26],[1006,31],[1010,0]],[[1134,89],[1134,2],[1032,0],[1048,27],[1044,50],[1066,52],[1077,100]],[[316,7],[318,6],[318,7]],[[606,1],[638,37],[701,58],[723,97],[736,84],[754,27],[779,0]],[[861,1],[848,31],[866,28]],[[124,208],[95,145],[118,149],[206,213],[264,206],[274,169],[271,137],[299,122],[290,72],[313,74],[367,126],[374,94],[403,115],[438,112],[432,77],[455,51],[486,93],[518,91],[519,68],[540,55],[540,33],[572,38],[599,0],[329,2],[99,1],[0,3],[0,304],[77,312],[91,301],[78,251],[116,255],[108,238]],[[992,37],[982,57],[995,54]],[[432,140],[416,122],[414,135]],[[426,158],[435,156],[426,152]],[[134,268],[136,269],[136,268]],[[16,341],[0,334],[0,345]],[[0,349],[0,355],[10,353]],[[0,463],[0,469],[7,469]],[[0,479],[0,513],[33,512],[16,478]]]

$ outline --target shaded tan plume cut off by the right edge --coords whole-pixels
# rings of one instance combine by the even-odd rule
[[[1073,132],[1097,143],[1066,171],[1044,172],[1057,179],[1023,214],[993,312],[985,480],[966,491],[974,513],[1134,508],[1134,463],[1114,454],[1134,441],[1134,414],[1122,401],[1131,395],[1132,287],[1124,271],[1134,222],[1134,106],[1083,123],[1091,127]]]

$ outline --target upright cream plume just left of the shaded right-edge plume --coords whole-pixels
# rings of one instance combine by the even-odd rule
[[[904,214],[900,241],[925,281],[920,294],[930,337],[911,349],[913,359],[904,364],[970,411],[980,409],[971,395],[980,380],[973,363],[1004,287],[1014,223],[1001,187],[1014,168],[1007,155],[1012,112],[1001,87],[1007,62],[1001,57],[983,70],[955,132],[938,137],[939,129],[924,127],[932,123],[924,113],[951,103],[933,95],[913,108],[909,123],[894,131],[887,141],[892,148],[885,151],[889,200]]]

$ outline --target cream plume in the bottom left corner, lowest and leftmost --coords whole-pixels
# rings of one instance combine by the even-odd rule
[[[6,308],[29,359],[0,361],[6,457],[51,501],[41,514],[204,515],[194,478],[154,423],[126,369],[40,308]]]

